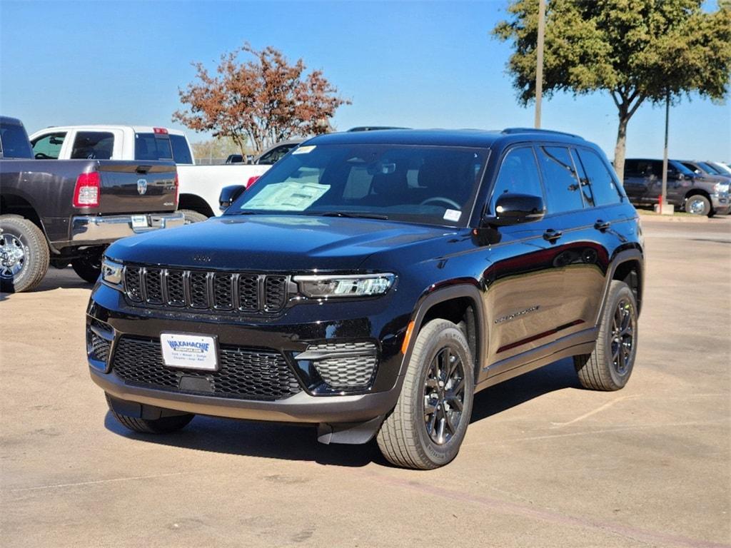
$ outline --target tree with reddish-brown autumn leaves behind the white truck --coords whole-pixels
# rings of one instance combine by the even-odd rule
[[[238,56],[248,53],[254,59],[241,63]],[[215,137],[230,137],[243,152],[248,141],[260,152],[269,145],[292,137],[326,133],[329,119],[342,104],[322,71],[304,75],[300,58],[289,64],[281,51],[268,46],[254,50],[243,47],[224,53],[209,74],[202,63],[192,64],[197,81],[185,90],[178,88],[186,110],[173,113],[173,121],[196,132],[213,132]]]

